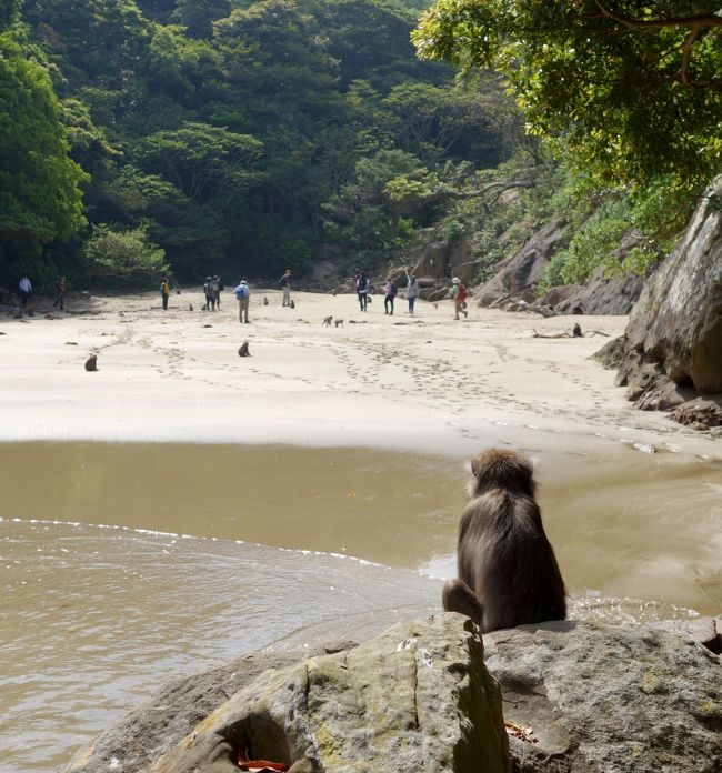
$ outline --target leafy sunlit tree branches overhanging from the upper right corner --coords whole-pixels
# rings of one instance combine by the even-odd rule
[[[495,68],[531,131],[602,181],[704,184],[722,158],[722,17],[712,0],[439,0],[422,58]]]

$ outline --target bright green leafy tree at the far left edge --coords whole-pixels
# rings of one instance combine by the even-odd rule
[[[69,158],[47,70],[0,34],[0,255],[11,264],[68,239],[84,222],[87,180]]]

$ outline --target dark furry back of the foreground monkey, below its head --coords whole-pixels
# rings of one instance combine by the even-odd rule
[[[566,616],[564,582],[533,498],[490,489],[467,504],[459,578],[484,608],[483,630]]]

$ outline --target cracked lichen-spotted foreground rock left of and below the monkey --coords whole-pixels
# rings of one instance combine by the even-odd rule
[[[240,754],[293,773],[509,770],[501,694],[481,638],[459,615],[402,623],[352,650],[251,676],[240,685],[235,671],[207,672],[204,690],[177,685],[66,773],[231,773]]]

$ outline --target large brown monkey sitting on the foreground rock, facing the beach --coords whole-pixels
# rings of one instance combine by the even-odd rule
[[[459,523],[459,579],[443,586],[444,610],[465,614],[484,633],[564,620],[564,581],[534,500],[531,461],[492,449],[471,461],[471,472]]]

